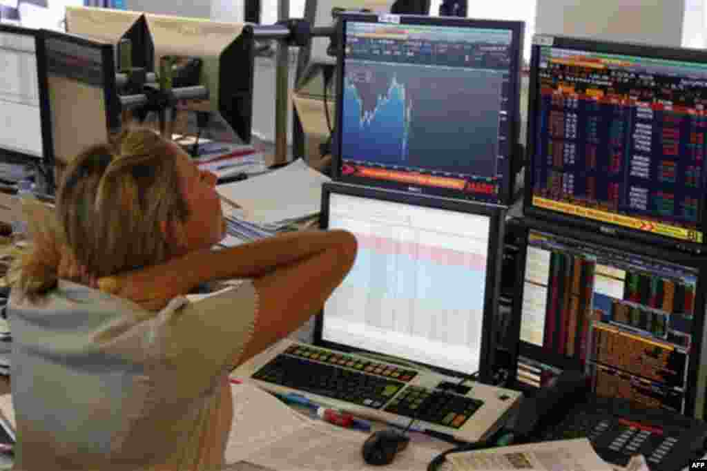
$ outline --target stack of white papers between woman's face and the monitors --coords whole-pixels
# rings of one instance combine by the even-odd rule
[[[218,185],[232,246],[272,236],[315,219],[322,205],[322,184],[331,179],[304,161],[240,182]]]

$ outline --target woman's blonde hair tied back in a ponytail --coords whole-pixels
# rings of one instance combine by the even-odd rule
[[[20,263],[21,291],[33,294],[56,286],[61,254],[47,253],[52,251],[47,243],[59,252],[69,250],[95,277],[170,257],[165,228],[170,231],[189,216],[171,146],[151,129],[129,129],[115,143],[76,156],[57,194],[55,220],[40,222],[28,214],[35,243]]]

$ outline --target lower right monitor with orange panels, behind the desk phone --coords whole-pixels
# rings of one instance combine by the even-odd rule
[[[580,368],[596,395],[701,417],[703,262],[547,221],[525,226],[513,315],[520,383]]]

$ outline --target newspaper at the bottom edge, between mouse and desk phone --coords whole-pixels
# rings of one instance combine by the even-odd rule
[[[452,470],[612,471],[586,438],[504,446],[447,456]]]

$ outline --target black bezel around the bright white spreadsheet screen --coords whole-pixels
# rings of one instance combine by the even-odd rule
[[[322,209],[320,214],[320,228],[326,230],[329,226],[329,197],[332,193],[345,194],[355,197],[378,199],[381,201],[410,204],[413,206],[445,209],[461,213],[476,214],[489,217],[489,245],[486,259],[486,285],[484,292],[484,315],[481,321],[481,351],[479,358],[479,381],[491,383],[493,378],[493,364],[496,347],[496,319],[498,318],[498,296],[501,289],[501,260],[503,252],[503,231],[505,228],[506,207],[496,204],[480,204],[459,199],[423,197],[419,194],[382,190],[375,187],[350,185],[343,182],[327,182],[322,185]],[[491,280],[491,282],[488,282]],[[329,342],[322,338],[324,327],[324,313],[322,308],[315,317],[314,344],[322,347],[354,353],[357,351],[380,354],[376,351],[356,349],[355,347]],[[404,360],[404,359],[402,359]],[[468,377],[467,373],[452,371],[439,366],[423,364],[425,368],[439,371],[448,376]]]

